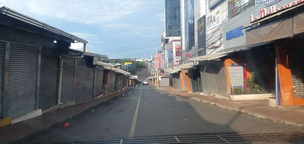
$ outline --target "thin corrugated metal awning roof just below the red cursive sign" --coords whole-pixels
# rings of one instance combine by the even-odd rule
[[[274,18],[274,17],[277,17],[277,16],[279,16],[279,15],[281,15],[281,14],[283,14],[283,13],[286,13],[286,12],[288,12],[288,11],[290,11],[290,10],[294,10],[294,9],[296,9],[296,8],[299,8],[299,7],[304,7],[304,3],[303,3],[303,2],[301,2],[301,3],[302,3],[302,4],[295,5],[295,6],[293,6],[293,7],[290,7],[290,8],[287,8],[287,9],[283,9],[283,10],[278,11],[278,12],[276,12],[276,13],[273,13],[273,14],[271,14],[271,15],[265,16],[265,17],[263,17],[263,18],[261,18],[261,19],[259,19],[259,20],[257,20],[257,21],[254,21],[254,22],[250,23],[250,24],[247,25],[247,26],[243,27],[243,29],[244,29],[244,28],[251,27],[251,26],[254,26],[254,25],[256,25],[256,24],[259,24],[260,22],[263,22],[263,21],[265,21],[265,20],[269,20],[269,19],[272,19],[272,18]]]

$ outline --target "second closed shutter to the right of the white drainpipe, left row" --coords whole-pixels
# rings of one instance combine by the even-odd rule
[[[85,101],[86,77],[87,77],[86,61],[82,59],[78,59],[76,65],[76,74],[75,74],[75,91],[74,91],[75,102]]]

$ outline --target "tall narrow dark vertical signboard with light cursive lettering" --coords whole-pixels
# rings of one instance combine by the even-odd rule
[[[206,55],[206,16],[198,20],[198,55]]]

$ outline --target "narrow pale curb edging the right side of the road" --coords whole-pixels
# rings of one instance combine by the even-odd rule
[[[163,90],[165,92],[168,92],[168,91],[166,91],[162,88],[158,88],[158,89]],[[230,111],[234,111],[234,112],[241,113],[241,114],[247,114],[247,115],[252,116],[252,117],[261,118],[261,119],[269,120],[269,121],[273,121],[273,122],[278,122],[278,123],[282,123],[282,124],[285,124],[285,125],[297,126],[297,127],[303,127],[304,128],[304,125],[302,125],[302,124],[283,121],[283,120],[280,120],[280,119],[260,115],[260,114],[257,114],[257,113],[251,113],[251,112],[248,112],[248,111],[239,110],[239,109],[236,109],[234,107],[229,107],[229,106],[219,104],[217,102],[211,102],[211,101],[208,101],[208,100],[202,100],[202,99],[197,98],[197,97],[185,96],[185,95],[182,95],[182,94],[176,94],[176,93],[172,93],[172,92],[168,92],[168,93],[175,94],[175,95],[182,96],[182,97],[186,97],[186,98],[190,98],[190,99],[193,99],[193,100],[196,100],[196,101],[199,101],[199,102],[203,102],[203,103],[206,103],[206,104],[214,105],[214,106],[220,107],[221,109],[230,110]]]

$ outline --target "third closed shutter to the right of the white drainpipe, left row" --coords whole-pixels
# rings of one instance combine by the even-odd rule
[[[87,67],[87,78],[86,78],[86,97],[85,100],[91,99],[93,96],[93,85],[94,85],[94,67]]]

